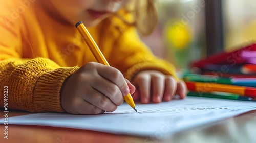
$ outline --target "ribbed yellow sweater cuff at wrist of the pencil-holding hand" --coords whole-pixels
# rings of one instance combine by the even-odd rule
[[[63,67],[48,71],[40,76],[33,93],[35,112],[65,112],[60,104],[63,82],[79,67]]]

